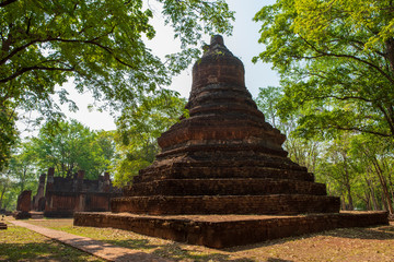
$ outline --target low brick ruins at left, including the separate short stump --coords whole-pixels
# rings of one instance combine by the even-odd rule
[[[43,215],[72,217],[77,211],[109,211],[111,199],[120,195],[121,190],[113,187],[108,172],[96,180],[84,179],[83,170],[79,170],[72,178],[62,178],[55,177],[55,168],[51,167],[48,175],[39,176],[37,193],[33,200],[32,190],[25,190],[19,195],[15,218]]]

